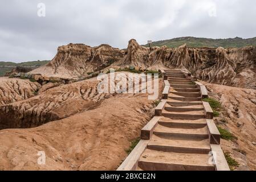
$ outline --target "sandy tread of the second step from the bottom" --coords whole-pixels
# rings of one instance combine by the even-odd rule
[[[166,139],[153,135],[150,146],[168,146],[168,147],[184,147],[184,148],[202,148],[210,150],[209,139],[204,140],[179,140],[179,139]]]

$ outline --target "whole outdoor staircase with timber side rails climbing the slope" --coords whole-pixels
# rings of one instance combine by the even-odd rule
[[[164,100],[156,108],[156,117],[141,131],[141,142],[118,170],[229,170],[220,133],[211,120],[212,109],[202,102],[203,85],[192,81],[190,73],[162,72]],[[212,148],[217,150],[211,152]]]

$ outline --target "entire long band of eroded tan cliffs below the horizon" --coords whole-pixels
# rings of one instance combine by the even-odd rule
[[[68,44],[47,65],[30,73],[47,77],[79,78],[104,69],[127,67],[135,69],[184,69],[211,83],[256,89],[256,48],[178,48],[166,46],[146,48],[131,39],[127,50],[108,45],[90,47]]]

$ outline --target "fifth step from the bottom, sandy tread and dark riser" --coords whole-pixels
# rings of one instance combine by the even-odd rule
[[[202,111],[184,111],[184,112],[170,112],[163,110],[162,116],[170,119],[204,119],[205,113]]]

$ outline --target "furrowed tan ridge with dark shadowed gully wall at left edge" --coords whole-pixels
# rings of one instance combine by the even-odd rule
[[[27,100],[0,106],[0,130],[36,127],[66,118],[87,110],[104,96],[97,93],[97,81],[58,86]]]

